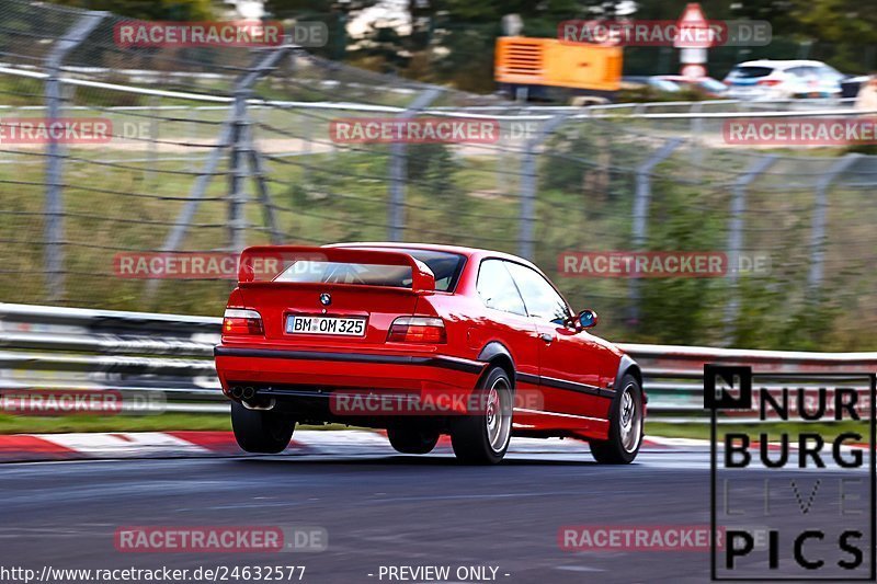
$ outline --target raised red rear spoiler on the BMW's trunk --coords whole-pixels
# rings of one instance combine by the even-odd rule
[[[255,283],[257,273],[264,272],[269,261],[285,265],[289,261],[310,260],[321,262],[355,263],[369,265],[400,265],[411,268],[411,289],[432,291],[435,275],[413,256],[398,251],[357,250],[353,248],[316,248],[308,245],[257,245],[247,248],[238,263],[238,283]]]

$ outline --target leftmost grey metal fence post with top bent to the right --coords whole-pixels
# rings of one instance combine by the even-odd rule
[[[60,72],[64,59],[106,16],[106,12],[83,14],[49,51],[45,60],[46,117],[60,117],[64,106]],[[65,151],[61,145],[49,136],[46,142],[46,218],[45,218],[45,262],[47,297],[56,302],[64,298],[64,201],[61,198],[61,175],[64,173]]]

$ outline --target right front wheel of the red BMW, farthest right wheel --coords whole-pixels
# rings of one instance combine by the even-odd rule
[[[630,415],[630,430],[623,433],[623,412],[625,394],[630,396],[634,411]],[[592,440],[591,455],[602,465],[628,465],[634,461],[642,445],[646,419],[642,411],[642,389],[631,375],[625,375],[612,402],[610,412],[610,437],[607,440]]]

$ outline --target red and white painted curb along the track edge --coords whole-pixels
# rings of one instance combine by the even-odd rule
[[[707,440],[649,437],[643,450],[708,447]],[[442,436],[436,453],[451,453]],[[574,439],[512,438],[511,454],[585,455],[588,445]],[[0,461],[92,458],[156,458],[236,456],[244,453],[230,432],[119,432],[0,435]],[[284,455],[394,455],[386,434],[366,431],[298,431]]]

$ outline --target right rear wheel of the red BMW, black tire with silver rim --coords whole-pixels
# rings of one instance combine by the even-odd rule
[[[488,409],[491,390],[497,390],[494,415],[490,416]],[[512,409],[514,403],[514,386],[509,374],[502,367],[492,367],[483,376],[474,394],[475,408],[478,410],[472,415],[460,415],[453,420],[451,427],[451,445],[457,459],[467,465],[497,465],[509,449],[509,439],[512,435]],[[498,412],[502,415],[496,415]],[[493,426],[494,424],[500,424]],[[508,427],[504,425],[508,424]],[[497,428],[494,439],[491,440],[491,428]]]

